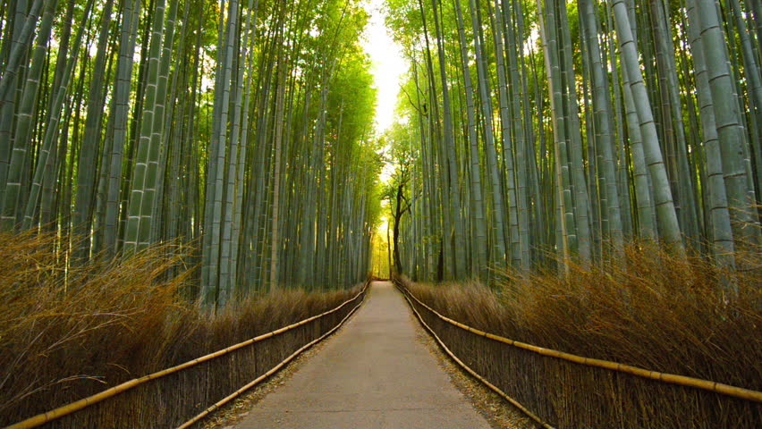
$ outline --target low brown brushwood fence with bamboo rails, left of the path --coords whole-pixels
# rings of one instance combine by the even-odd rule
[[[323,314],[133,379],[6,429],[190,427],[338,329],[360,307],[368,284]]]

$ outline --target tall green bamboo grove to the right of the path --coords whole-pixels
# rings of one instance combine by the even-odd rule
[[[470,248],[470,265],[480,265],[479,207],[491,220],[487,265],[504,264],[506,246],[505,260],[528,273],[565,269],[554,254],[606,264],[623,241],[634,239],[656,239],[676,252],[687,246],[732,265],[733,240],[758,240],[758,197],[750,197],[758,196],[752,178],[762,164],[751,159],[762,117],[752,46],[759,27],[749,21],[755,11],[729,3],[722,37],[720,27],[699,31],[720,17],[710,2],[691,3],[681,9],[679,2],[593,1],[588,9],[584,0],[387,2],[386,23],[411,61],[399,114],[418,151],[412,188],[426,195],[405,232],[411,275],[452,278],[447,258],[463,247]],[[691,14],[694,9],[707,16]],[[715,59],[699,64],[697,50]],[[702,82],[707,73],[711,85]],[[741,112],[725,77],[747,73],[751,79],[734,88],[740,105],[749,106]],[[712,164],[719,154],[705,153],[717,152],[717,140],[707,137],[715,131],[728,143],[721,147],[741,147],[724,153],[721,167]],[[724,189],[717,187],[727,187],[732,214],[724,213]],[[467,213],[470,219],[456,222]],[[421,246],[429,240],[436,244]]]

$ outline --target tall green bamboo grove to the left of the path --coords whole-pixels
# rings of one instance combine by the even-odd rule
[[[51,4],[52,32],[40,40],[49,52],[37,55],[44,61],[34,69],[39,90],[26,87],[34,96],[27,105],[2,103],[2,199],[13,190],[6,230],[19,231],[26,211],[26,227],[45,223],[90,235],[77,243],[79,262],[104,250],[118,256],[149,243],[203,238],[194,275],[211,301],[266,288],[272,269],[264,250],[274,241],[277,259],[289,261],[275,264],[284,284],[308,283],[306,273],[293,274],[305,257],[314,274],[309,282],[318,287],[364,277],[369,257],[354,256],[368,254],[378,222],[381,163],[372,127],[376,93],[360,46],[368,22],[362,3],[116,1],[100,47],[106,3],[91,3],[91,11],[87,4]],[[0,9],[7,40],[25,24],[14,25],[15,5]],[[71,46],[77,30],[82,43]],[[11,45],[0,46],[4,58]],[[21,58],[31,62],[34,46],[25,48]],[[63,63],[77,48],[79,55]],[[105,61],[102,71],[97,58]],[[29,83],[25,76],[13,85],[23,91]],[[56,104],[58,88],[64,92]],[[103,97],[90,97],[89,88]],[[29,133],[14,129],[20,114],[29,118]],[[271,177],[276,170],[283,172],[279,187]],[[30,189],[41,196],[28,201]],[[275,201],[286,214],[280,219]],[[318,232],[318,223],[334,231]],[[342,261],[346,269],[315,273],[348,257],[356,260]]]

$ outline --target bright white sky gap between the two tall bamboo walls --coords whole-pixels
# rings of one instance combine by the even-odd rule
[[[370,13],[370,20],[362,44],[373,61],[373,78],[378,89],[376,123],[379,134],[394,122],[394,106],[397,104],[402,74],[408,70],[400,46],[386,32],[384,14],[381,12],[383,4],[384,0],[367,1],[365,10]]]

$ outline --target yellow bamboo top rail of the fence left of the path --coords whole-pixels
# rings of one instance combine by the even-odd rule
[[[164,377],[165,375],[174,374],[179,371],[182,371],[183,369],[190,368],[191,366],[197,366],[201,363],[207,362],[208,360],[212,360],[216,357],[224,356],[232,351],[235,351],[237,349],[242,349],[246,346],[250,346],[251,344],[267,340],[270,337],[274,337],[275,335],[279,335],[284,332],[291,331],[292,329],[298,328],[303,324],[309,324],[310,322],[319,319],[321,317],[325,317],[326,315],[330,315],[336,311],[339,311],[341,308],[349,304],[350,302],[354,301],[355,299],[358,299],[363,293],[365,293],[365,290],[368,289],[369,282],[365,282],[365,284],[362,287],[362,290],[357,293],[354,297],[351,299],[347,299],[344,301],[340,306],[335,307],[332,310],[328,310],[325,313],[322,313],[320,315],[313,315],[312,317],[309,317],[307,319],[302,320],[301,322],[297,322],[296,324],[290,324],[288,326],[284,326],[283,328],[277,329],[273,332],[267,332],[263,333],[262,335],[259,335],[257,337],[254,337],[250,340],[239,342],[238,344],[234,344],[233,346],[230,346],[226,349],[217,350],[216,352],[209,353],[206,356],[198,357],[196,359],[190,360],[188,362],[185,362],[184,364],[180,364],[178,366],[173,366],[171,368],[166,368],[162,371],[158,371],[157,373],[144,375],[140,378],[133,378],[132,380],[128,382],[124,382],[122,384],[118,384],[110,389],[106,389],[105,391],[101,391],[99,393],[96,393],[95,395],[89,396],[87,398],[77,400],[75,402],[72,402],[71,404],[64,405],[63,407],[55,408],[51,411],[47,411],[46,413],[38,414],[37,416],[30,417],[26,420],[23,420],[19,423],[6,426],[5,429],[31,429],[33,427],[38,427],[40,425],[45,425],[48,422],[51,422],[53,420],[59,419],[63,416],[68,416],[72,413],[75,413],[79,411],[82,408],[88,408],[89,406],[93,404],[97,404],[98,402],[101,402],[103,400],[107,400],[111,397],[114,397],[120,393],[123,393],[124,391],[129,391],[133,387],[139,386],[140,384],[147,383],[151,380],[155,380],[157,378]]]

